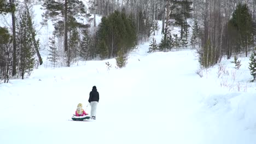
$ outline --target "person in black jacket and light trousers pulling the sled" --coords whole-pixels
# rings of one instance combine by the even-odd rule
[[[89,103],[91,105],[91,118],[96,119],[96,109],[98,105],[98,100],[100,100],[100,94],[97,92],[96,86],[92,87],[89,97]]]

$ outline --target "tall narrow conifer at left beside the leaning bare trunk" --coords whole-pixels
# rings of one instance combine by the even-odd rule
[[[20,49],[20,58],[19,58],[19,73],[24,79],[25,73],[30,75],[31,71],[34,68],[34,54],[36,51],[34,50],[33,36],[30,26],[30,22],[28,20],[27,11],[24,11],[20,16],[19,21],[19,32],[18,32],[18,41],[19,41],[19,49]]]

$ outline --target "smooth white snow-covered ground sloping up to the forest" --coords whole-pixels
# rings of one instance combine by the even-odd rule
[[[200,77],[195,50],[148,47],[130,52],[123,69],[115,59],[42,65],[28,79],[1,83],[0,143],[256,143],[248,57],[238,70],[223,59]],[[78,103],[86,109],[92,86],[100,93],[97,120],[69,121]]]

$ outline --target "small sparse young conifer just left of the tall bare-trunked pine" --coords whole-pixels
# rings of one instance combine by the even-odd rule
[[[57,54],[57,46],[55,41],[55,35],[53,37],[49,38],[49,61],[53,63],[53,66],[56,67],[57,60],[59,59],[59,55]]]

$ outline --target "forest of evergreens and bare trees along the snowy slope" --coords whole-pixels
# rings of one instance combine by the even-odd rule
[[[42,26],[53,22],[48,47],[37,39],[33,5],[42,5]],[[149,52],[196,49],[208,68],[223,57],[248,56],[255,44],[254,0],[0,0],[0,13],[11,17],[9,26],[0,27],[0,83],[29,76],[43,64],[42,49],[53,67],[115,58],[121,68],[127,52],[153,36]],[[162,39],[156,44],[158,30]]]

